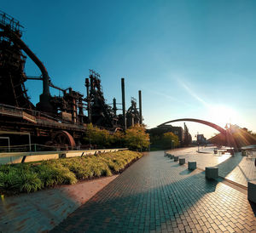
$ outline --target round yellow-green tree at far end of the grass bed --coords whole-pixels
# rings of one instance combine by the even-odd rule
[[[143,126],[133,126],[125,131],[125,145],[131,150],[143,150],[148,148],[149,134]]]

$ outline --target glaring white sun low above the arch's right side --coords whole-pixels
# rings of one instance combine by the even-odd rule
[[[212,105],[208,110],[211,122],[223,128],[227,123],[236,123],[236,116],[236,111],[225,105]]]

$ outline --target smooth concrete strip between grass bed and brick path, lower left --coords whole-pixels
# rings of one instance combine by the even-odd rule
[[[118,175],[19,196],[1,196],[0,232],[46,232]]]

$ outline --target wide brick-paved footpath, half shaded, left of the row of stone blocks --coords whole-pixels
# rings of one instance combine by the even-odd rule
[[[156,151],[52,232],[256,232],[255,213],[246,194]]]

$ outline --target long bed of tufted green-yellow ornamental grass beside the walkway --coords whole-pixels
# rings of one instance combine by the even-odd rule
[[[73,185],[78,180],[111,176],[142,156],[135,151],[117,151],[39,164],[0,165],[0,194],[29,193],[55,185]]]

